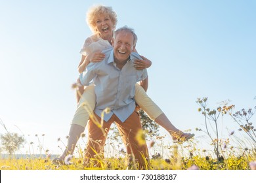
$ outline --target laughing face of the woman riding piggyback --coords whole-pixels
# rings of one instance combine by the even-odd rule
[[[96,31],[105,40],[112,39],[113,23],[108,15],[101,14],[95,19]]]

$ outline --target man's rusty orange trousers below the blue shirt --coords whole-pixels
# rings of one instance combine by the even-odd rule
[[[96,114],[95,118],[100,122],[100,117]],[[110,125],[112,125],[113,122],[116,122],[117,129],[127,148],[127,154],[135,158],[135,161],[139,164],[138,169],[146,169],[149,159],[148,148],[146,146],[146,142],[141,144],[137,141],[137,133],[142,130],[142,127],[140,123],[140,116],[136,111],[134,111],[131,116],[125,120],[125,122],[121,122],[119,118],[113,114],[108,122],[103,122],[102,129],[104,129],[105,134],[92,119],[89,120],[87,124],[89,138],[85,150],[85,163],[88,163],[90,158],[95,158],[98,155],[104,156],[106,137],[108,135]]]

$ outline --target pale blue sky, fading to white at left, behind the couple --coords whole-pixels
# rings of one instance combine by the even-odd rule
[[[28,143],[45,134],[44,148],[59,154],[58,137],[66,142],[79,50],[92,34],[85,14],[98,3],[116,11],[117,27],[135,29],[137,50],[152,60],[148,95],[179,129],[202,137],[198,97],[255,106],[256,1],[0,0],[0,118]]]

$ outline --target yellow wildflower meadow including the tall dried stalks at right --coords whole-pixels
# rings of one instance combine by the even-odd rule
[[[204,133],[209,139],[208,149],[198,148],[198,139],[190,139],[183,144],[164,144],[165,137],[156,136],[154,141],[150,142],[148,148],[150,149],[150,159],[148,167],[149,170],[250,170],[256,169],[256,129],[251,122],[251,117],[255,114],[255,108],[248,110],[242,109],[237,112],[232,112],[234,105],[224,105],[216,109],[207,107],[207,98],[198,98],[198,112],[201,112],[205,120],[205,129],[196,129],[198,133]],[[219,117],[228,115],[238,125],[238,131],[244,136],[236,137],[234,131],[231,131],[228,137],[219,137]],[[2,123],[5,127],[5,125]],[[211,125],[211,129],[209,126]],[[6,129],[6,127],[5,127]],[[7,130],[7,129],[6,129]],[[7,135],[8,136],[8,135]],[[2,136],[3,137],[3,136]],[[11,137],[11,136],[10,136]],[[12,136],[14,137],[14,136]],[[112,138],[110,144],[113,144],[113,139],[119,140],[117,136]],[[20,138],[16,138],[20,140]],[[138,139],[141,141],[144,138]],[[146,138],[145,138],[146,139]],[[144,140],[145,140],[144,139]],[[2,148],[10,148],[10,144],[15,144],[13,138],[2,140]],[[39,140],[39,139],[38,139]],[[146,141],[148,141],[146,139]],[[203,140],[204,142],[205,139]],[[5,142],[5,143],[3,143]],[[3,146],[5,144],[5,146]],[[133,161],[127,163],[127,154],[125,150],[115,150],[116,154],[112,154],[113,150],[106,150],[105,157],[93,159],[100,164],[95,167],[93,163],[83,166],[83,150],[81,146],[77,146],[76,152],[78,156],[70,156],[66,159],[66,164],[69,165],[54,165],[52,163],[51,154],[40,145],[39,149],[41,157],[33,157],[31,154],[25,158],[16,158],[13,152],[18,148],[11,146],[12,156],[9,158],[1,158],[0,154],[0,169],[1,170],[83,170],[83,169],[104,169],[104,170],[127,170],[137,169],[137,165]],[[31,144],[33,145],[33,144]],[[29,150],[27,152],[30,152]],[[167,154],[167,156],[166,156]],[[100,156],[99,156],[100,157]]]

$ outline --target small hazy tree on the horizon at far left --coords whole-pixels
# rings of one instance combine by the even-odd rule
[[[20,149],[20,146],[24,144],[25,139],[18,133],[5,133],[1,135],[2,149],[8,152],[9,155]]]

